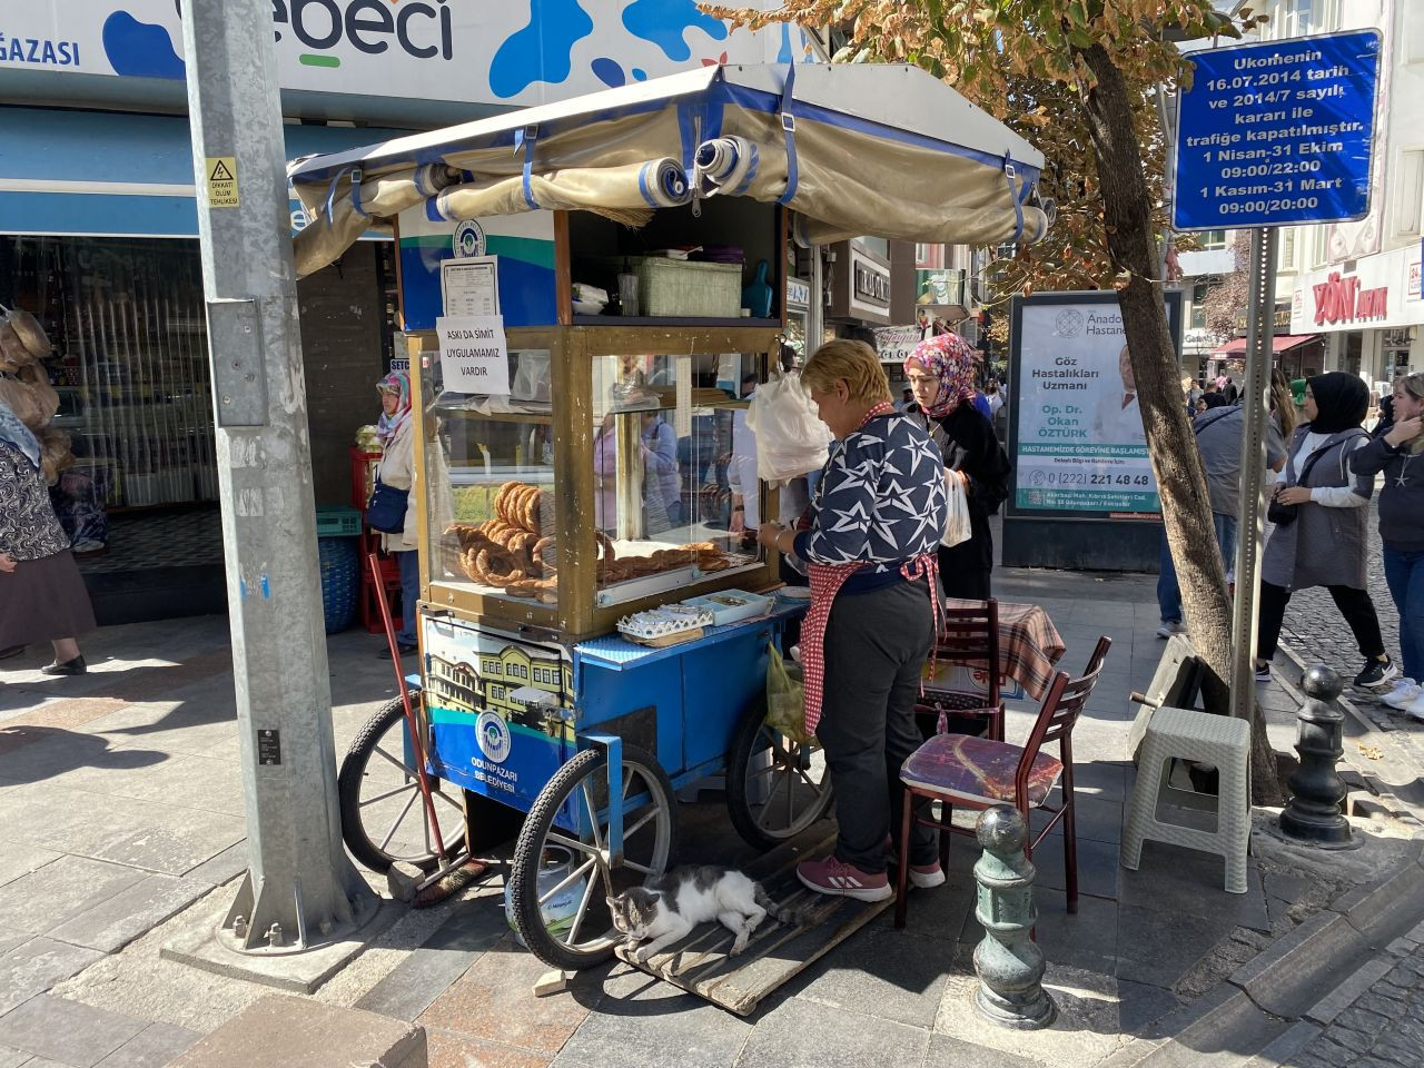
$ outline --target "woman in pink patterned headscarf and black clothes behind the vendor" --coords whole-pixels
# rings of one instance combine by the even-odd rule
[[[994,424],[973,403],[975,356],[957,333],[941,333],[914,346],[904,362],[904,377],[914,390],[921,426],[940,446],[944,467],[968,494],[970,538],[940,547],[940,582],[946,597],[987,601],[994,570],[988,517],[1008,497],[1012,468]]]

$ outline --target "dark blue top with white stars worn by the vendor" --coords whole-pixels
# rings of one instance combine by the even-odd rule
[[[879,416],[832,443],[812,528],[796,537],[796,555],[817,564],[869,562],[844,588],[880,585],[940,547],[947,508],[940,447],[911,419]]]

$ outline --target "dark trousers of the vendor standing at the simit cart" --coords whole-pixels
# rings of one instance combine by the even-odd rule
[[[900,765],[921,742],[914,701],[933,638],[924,581],[840,594],[826,621],[816,736],[836,793],[836,856],[862,871],[886,870],[886,836],[900,817]],[[931,864],[937,856],[934,832],[916,826],[911,863]]]

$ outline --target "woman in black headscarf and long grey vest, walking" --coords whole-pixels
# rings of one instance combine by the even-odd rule
[[[1314,585],[1330,591],[1358,642],[1364,668],[1354,685],[1374,689],[1398,675],[1366,588],[1364,531],[1374,476],[1350,470],[1350,454],[1370,440],[1360,427],[1368,406],[1370,392],[1354,375],[1336,370],[1306,383],[1306,422],[1292,436],[1284,477],[1273,491],[1273,501],[1290,507],[1294,520],[1277,523],[1262,560],[1259,681],[1270,679],[1292,592]]]

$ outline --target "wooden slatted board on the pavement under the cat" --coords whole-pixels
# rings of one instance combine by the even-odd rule
[[[796,864],[807,857],[824,856],[834,842],[832,834],[809,846],[780,846],[745,869],[779,907],[797,910],[799,923],[795,927],[768,917],[742,954],[729,957],[733,934],[722,924],[705,923],[646,963],[634,964],[624,946],[615,950],[618,958],[731,1012],[750,1015],[763,997],[894,903],[894,899],[857,901],[830,897],[800,884]]]

